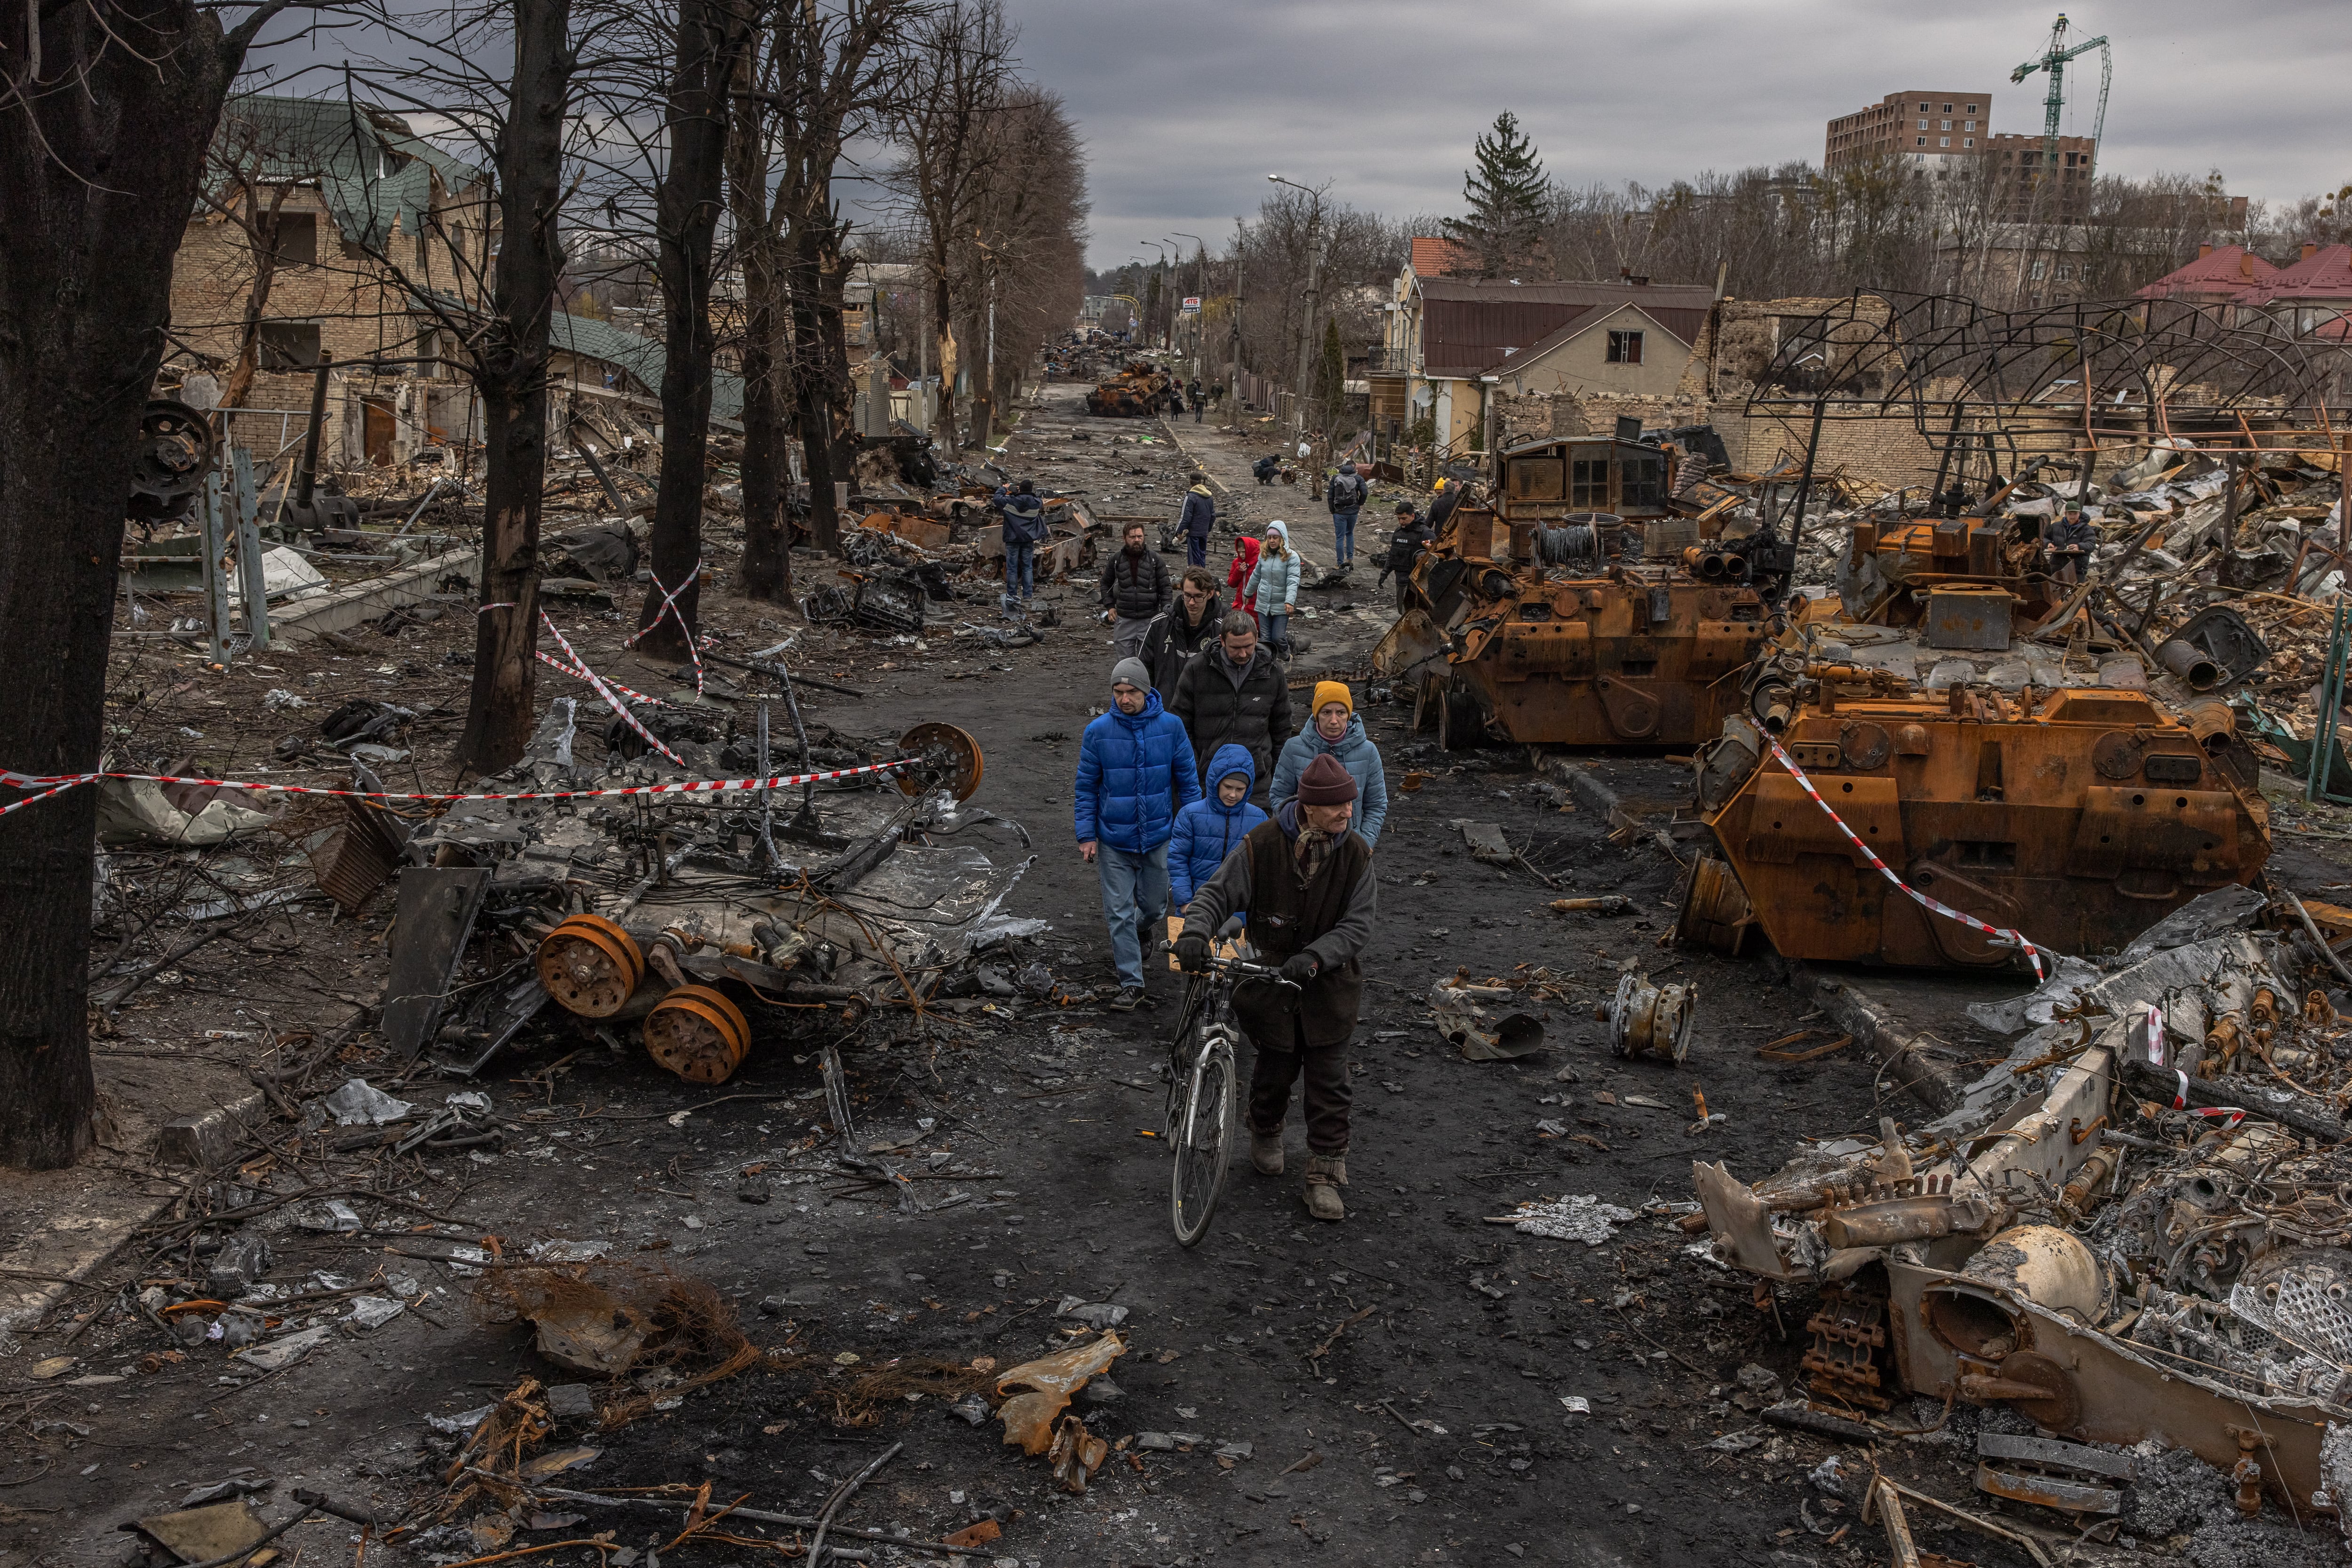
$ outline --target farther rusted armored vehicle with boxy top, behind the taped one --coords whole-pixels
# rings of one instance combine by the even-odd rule
[[[1536,440],[1496,456],[1411,578],[1374,665],[1416,691],[1449,748],[1693,745],[1738,712],[1790,550],[1689,515],[1670,454],[1635,440]]]

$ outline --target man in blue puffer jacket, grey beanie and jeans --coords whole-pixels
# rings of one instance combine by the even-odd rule
[[[1141,658],[1110,668],[1110,712],[1077,743],[1077,853],[1103,877],[1110,959],[1120,969],[1122,1013],[1143,1001],[1143,954],[1169,903],[1169,835],[1176,813],[1200,799],[1192,738],[1160,708]]]

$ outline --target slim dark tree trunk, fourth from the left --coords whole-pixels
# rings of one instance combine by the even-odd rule
[[[776,393],[783,275],[769,212],[767,113],[750,96],[755,49],[736,66],[743,96],[727,141],[727,197],[743,259],[743,597],[793,602],[793,524],[783,515],[786,411]]]

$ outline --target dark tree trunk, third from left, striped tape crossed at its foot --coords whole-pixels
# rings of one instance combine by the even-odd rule
[[[687,658],[701,625],[703,477],[710,451],[710,244],[727,169],[727,89],[743,31],[724,0],[682,0],[670,75],[670,158],[654,193],[661,256],[661,480],[654,487],[654,581],[637,609],[640,646]],[[675,595],[675,602],[673,602]],[[666,611],[663,604],[670,602]]]

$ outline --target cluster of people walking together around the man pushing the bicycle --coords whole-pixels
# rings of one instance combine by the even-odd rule
[[[1303,1084],[1305,1206],[1345,1218],[1350,1086],[1348,1039],[1362,1006],[1362,954],[1376,912],[1371,853],[1388,818],[1381,752],[1345,682],[1317,682],[1308,722],[1294,722],[1289,663],[1277,628],[1296,602],[1296,552],[1279,524],[1218,607],[1216,578],[1185,567],[1171,602],[1143,623],[1150,571],[1143,529],[1103,571],[1105,618],[1120,658],[1110,708],[1087,724],[1077,752],[1075,832],[1103,891],[1117,994],[1145,997],[1150,954],[1167,912],[1183,914],[1178,966],[1197,971],[1228,914],[1244,914],[1261,961],[1296,992],[1242,985],[1235,1013],[1256,1058],[1249,1084],[1251,1166],[1284,1173],[1282,1124]],[[1237,559],[1240,564],[1240,559]],[[1164,569],[1162,569],[1164,574]],[[1230,578],[1232,574],[1228,574]],[[1258,595],[1258,614],[1242,607]],[[1275,607],[1282,609],[1275,609]],[[1261,621],[1265,635],[1261,637]],[[1268,780],[1261,806],[1256,790]]]

